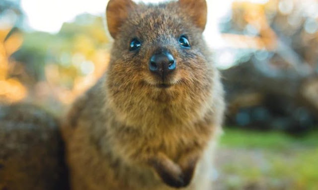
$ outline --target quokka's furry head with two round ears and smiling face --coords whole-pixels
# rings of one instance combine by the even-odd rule
[[[111,88],[169,95],[211,88],[213,66],[202,36],[205,0],[110,0],[106,17],[114,38],[107,75]]]

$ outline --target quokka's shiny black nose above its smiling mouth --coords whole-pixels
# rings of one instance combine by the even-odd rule
[[[160,51],[150,58],[149,70],[159,75],[162,80],[172,73],[176,68],[176,64],[172,54],[168,51]]]

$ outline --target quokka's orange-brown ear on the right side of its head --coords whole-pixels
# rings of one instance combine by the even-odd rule
[[[178,0],[181,11],[188,14],[194,24],[204,30],[207,22],[207,2],[205,0]]]

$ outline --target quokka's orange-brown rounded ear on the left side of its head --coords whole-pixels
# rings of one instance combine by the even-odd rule
[[[115,38],[119,28],[127,19],[128,13],[136,6],[132,0],[109,0],[106,8],[107,26],[110,35]]]

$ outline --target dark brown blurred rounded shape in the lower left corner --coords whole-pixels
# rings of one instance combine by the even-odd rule
[[[59,122],[41,108],[0,105],[0,190],[68,190]]]

